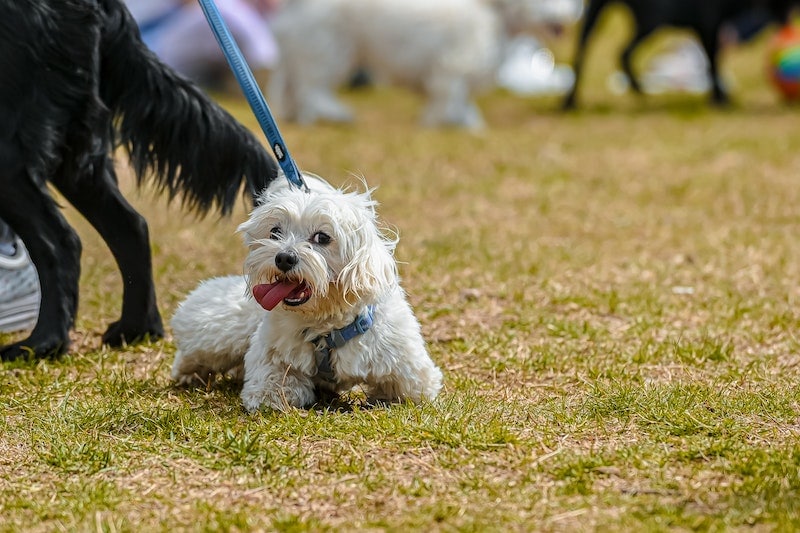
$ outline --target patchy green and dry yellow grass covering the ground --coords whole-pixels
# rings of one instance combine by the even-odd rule
[[[416,97],[376,89],[345,96],[353,126],[283,126],[304,168],[379,187],[432,404],[251,416],[232,384],[174,387],[170,338],[100,345],[121,281],[66,208],[74,346],[0,366],[0,530],[800,528],[796,110],[763,41],[726,57],[733,109],[611,95],[614,34],[573,114],[497,91],[485,134],[422,130]],[[197,220],[121,172],[166,318],[241,270],[244,207]]]

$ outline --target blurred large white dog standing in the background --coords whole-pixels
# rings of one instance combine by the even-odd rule
[[[300,123],[349,122],[335,96],[357,67],[427,95],[422,122],[477,129],[509,37],[573,19],[576,0],[287,0],[272,27],[281,57],[270,102]]]

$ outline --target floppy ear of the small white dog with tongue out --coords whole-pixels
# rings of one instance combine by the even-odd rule
[[[378,227],[375,202],[369,192],[353,195],[361,203],[361,214],[348,238],[349,258],[339,273],[338,283],[347,298],[350,295],[361,300],[372,300],[397,283],[397,264],[394,248],[397,238],[389,238]]]

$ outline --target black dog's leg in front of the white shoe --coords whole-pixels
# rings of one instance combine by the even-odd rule
[[[14,147],[0,143],[0,217],[19,235],[39,274],[39,320],[27,339],[0,348],[5,361],[56,356],[69,347],[78,309],[81,244],[44,180],[25,170]]]

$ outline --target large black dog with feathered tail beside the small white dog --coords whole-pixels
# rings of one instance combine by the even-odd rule
[[[8,360],[63,353],[78,307],[81,244],[48,182],[111,249],[122,315],[118,346],[163,335],[147,224],[122,197],[111,158],[123,146],[141,183],[198,212],[228,213],[277,175],[259,141],[142,44],[122,0],[0,0],[0,218],[39,272],[39,321],[0,349]]]

